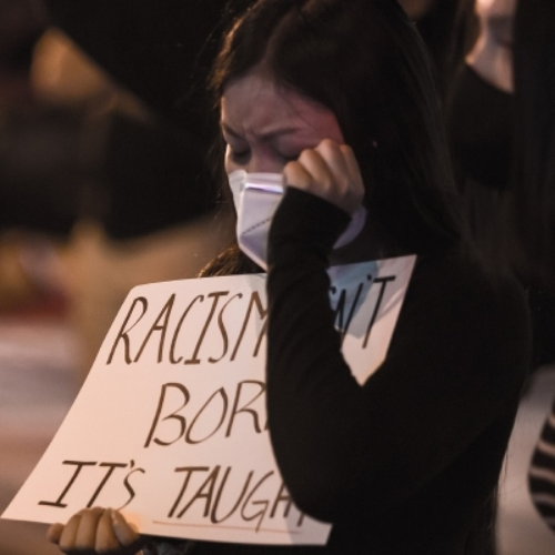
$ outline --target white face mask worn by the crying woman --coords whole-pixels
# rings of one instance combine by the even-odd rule
[[[259,266],[268,271],[268,234],[283,196],[283,174],[236,170],[229,174],[229,180],[238,214],[239,246]],[[365,220],[366,209],[360,206],[333,248],[339,249],[353,241],[364,226]]]

